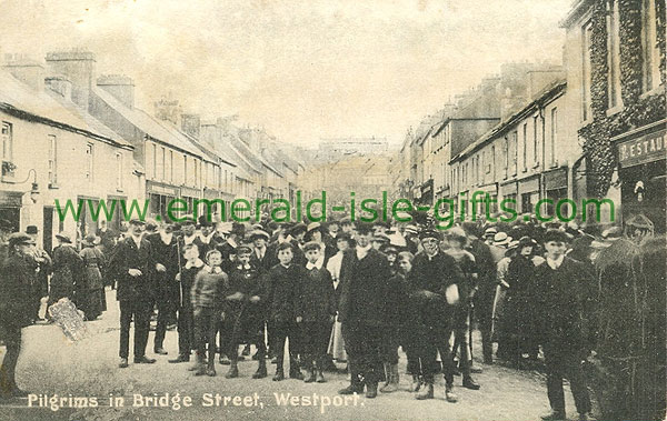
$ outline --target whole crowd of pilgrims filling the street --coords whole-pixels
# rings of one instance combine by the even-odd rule
[[[146,355],[152,318],[153,352],[168,354],[176,324],[169,362],[193,357],[193,375],[216,375],[217,361],[229,365],[226,378],[239,377],[252,345],[252,379],[266,378],[271,361],[272,380],[283,380],[286,357],[289,378],[306,382],[326,382],[326,371],[347,363],[350,383],[339,393],[372,399],[398,390],[401,349],[416,399],[434,399],[441,373],[456,402],[457,375],[481,388],[479,329],[477,360],[544,367],[552,409],[545,420],[566,419],[564,379],[581,420],[591,418],[589,388],[604,419],[661,419],[664,235],[640,220],[604,230],[530,218],[447,230],[421,222],[133,219],[123,232],[86,237],[80,250],[59,234],[52,257],[34,245],[33,227],[3,235],[2,395],[23,393],[14,381],[20,329],[39,320],[40,299],[68,298],[94,320],[108,284],[120,305],[120,368],[129,367],[132,321],[133,363],[156,362]]]

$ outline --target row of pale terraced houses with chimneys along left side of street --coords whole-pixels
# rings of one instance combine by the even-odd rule
[[[50,250],[56,233],[80,239],[107,219],[87,202],[79,221],[62,218],[57,201],[77,208],[116,199],[112,228],[122,220],[120,201],[149,200],[152,218],[167,215],[172,199],[188,203],[179,215],[195,200],[221,199],[228,218],[236,198],[293,201],[306,152],[233,120],[201,121],[172,99],[141,110],[132,79],[98,76],[89,51],[50,52],[44,61],[9,54],[0,71],[0,219],[13,230],[37,225]]]

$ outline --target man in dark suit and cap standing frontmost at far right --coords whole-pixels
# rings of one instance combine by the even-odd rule
[[[540,342],[547,369],[547,394],[551,413],[544,420],[565,420],[563,378],[568,378],[580,420],[587,420],[590,398],[584,362],[594,347],[594,274],[565,255],[568,238],[551,229],[544,237],[547,261],[536,268],[537,303],[541,309]]]

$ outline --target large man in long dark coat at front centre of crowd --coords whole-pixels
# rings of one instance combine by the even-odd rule
[[[338,309],[351,374],[350,385],[339,393],[360,393],[366,385],[366,397],[370,399],[377,397],[382,371],[382,333],[390,310],[385,297],[391,278],[389,262],[382,253],[372,249],[371,237],[372,227],[359,223],[357,247],[348,250],[342,258]]]

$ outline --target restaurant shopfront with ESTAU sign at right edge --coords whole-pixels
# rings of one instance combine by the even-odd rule
[[[665,233],[667,184],[665,123],[661,130],[637,133],[617,141],[618,177],[621,181],[621,218],[648,218],[658,233]]]

